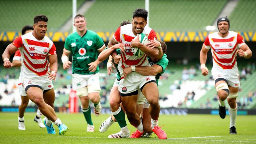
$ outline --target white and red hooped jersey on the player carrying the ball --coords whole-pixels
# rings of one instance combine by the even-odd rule
[[[148,39],[156,40],[156,32],[152,28],[145,26],[142,33],[148,36]],[[125,51],[121,51],[122,63],[119,62],[118,64],[121,78],[124,68],[129,66],[150,66],[147,59],[148,55],[146,53],[141,56],[135,56],[132,53],[131,41],[135,37],[132,32],[132,24],[127,24],[117,28],[113,37],[115,38],[116,42],[123,43],[125,45]]]

